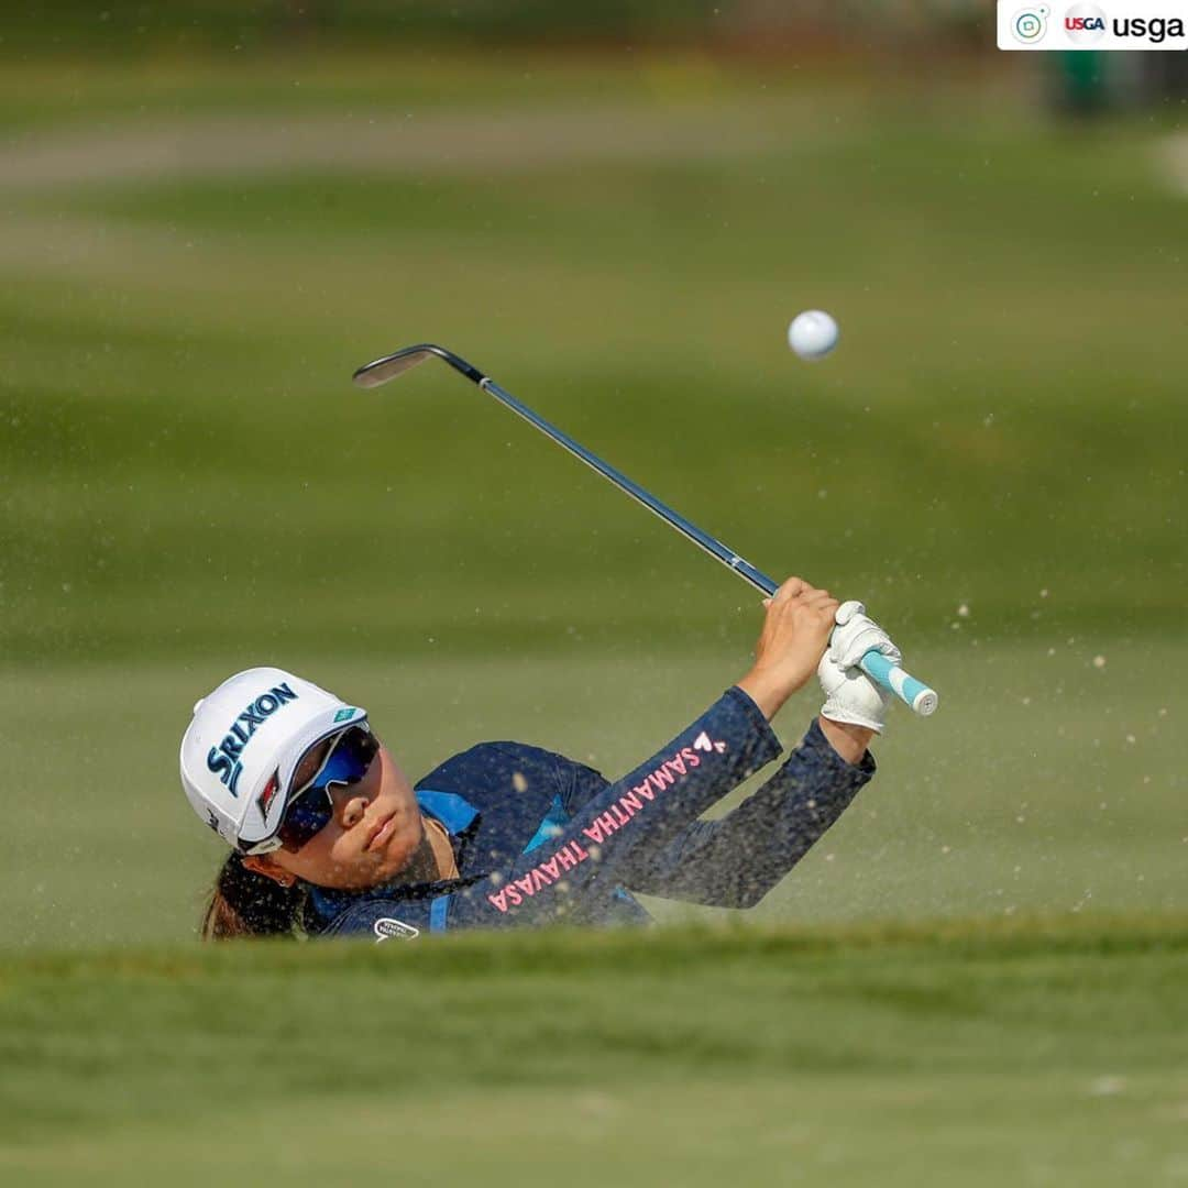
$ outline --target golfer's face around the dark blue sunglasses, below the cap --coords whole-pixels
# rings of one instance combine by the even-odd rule
[[[329,742],[302,760],[299,788],[321,767]],[[307,883],[359,890],[396,878],[424,841],[424,822],[404,772],[383,744],[366,776],[347,788],[331,786],[334,819],[296,852],[276,851],[278,865]]]

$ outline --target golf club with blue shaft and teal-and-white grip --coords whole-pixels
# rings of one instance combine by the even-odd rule
[[[423,364],[426,359],[435,358],[449,364],[450,367],[460,372],[473,384],[476,384],[482,391],[489,392],[497,400],[511,409],[512,412],[533,424],[558,446],[598,470],[604,479],[609,480],[620,491],[631,495],[632,499],[643,504],[644,507],[656,516],[659,516],[662,520],[675,527],[682,536],[688,537],[694,544],[704,549],[706,552],[720,561],[727,569],[734,570],[734,573],[744,581],[750,582],[757,590],[762,590],[770,598],[779,588],[778,582],[772,581],[766,574],[756,569],[748,561],[744,561],[732,549],[726,548],[720,541],[715,541],[709,533],[703,532],[696,524],[690,524],[683,516],[677,514],[666,504],[661,503],[651,492],[645,491],[625,474],[620,474],[613,466],[604,462],[596,454],[592,454],[568,434],[549,424],[548,421],[535,413],[527,405],[517,400],[511,392],[505,391],[493,379],[484,375],[473,364],[468,364],[460,355],[455,355],[454,352],[447,350],[444,347],[438,347],[431,342],[405,347],[391,355],[384,355],[373,362],[364,364],[354,373],[353,379],[359,387],[379,387],[381,384],[403,375],[418,364]],[[928,716],[936,710],[937,695],[935,690],[905,672],[881,652],[868,651],[859,662],[859,666],[871,680],[877,681],[884,689],[893,693],[910,706],[915,713]]]

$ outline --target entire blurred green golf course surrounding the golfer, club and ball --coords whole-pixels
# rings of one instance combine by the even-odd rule
[[[1182,1180],[1182,55],[992,44],[960,0],[6,14],[0,1175],[242,1181],[263,1062],[295,1182],[605,1182],[615,1136],[624,1182]],[[232,671],[413,773],[614,776],[747,666],[753,593],[493,402],[349,385],[422,340],[941,690],[758,931],[192,943],[176,751]]]

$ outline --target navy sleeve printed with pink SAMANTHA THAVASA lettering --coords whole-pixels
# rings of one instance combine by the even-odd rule
[[[498,928],[583,918],[642,847],[664,846],[710,804],[779,754],[754,702],[728,689],[646,763],[577,809],[564,832],[508,870],[451,897],[451,927]]]

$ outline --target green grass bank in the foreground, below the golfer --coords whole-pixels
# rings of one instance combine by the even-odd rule
[[[0,1174],[1173,1182],[1186,975],[1181,917],[26,958]]]

